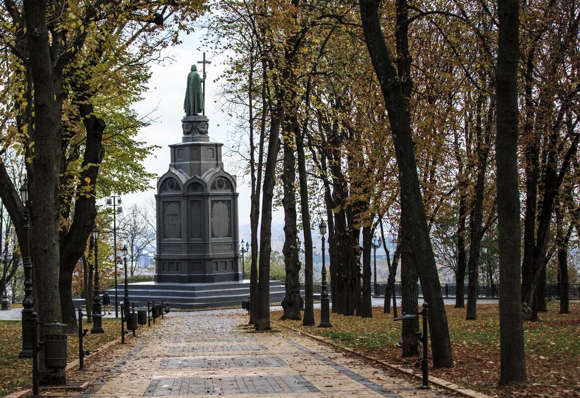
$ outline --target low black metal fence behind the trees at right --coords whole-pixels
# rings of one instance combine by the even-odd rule
[[[320,294],[321,284],[320,282],[314,283],[314,294]],[[385,290],[387,288],[386,282],[371,283],[371,294],[375,297],[385,297]],[[548,297],[560,297],[560,284],[559,283],[548,283],[546,284],[548,290]],[[418,284],[419,296],[423,295],[421,285]],[[304,284],[300,284],[300,290],[304,290]],[[331,293],[331,285],[327,284],[328,293]],[[398,297],[401,296],[401,283],[395,282],[395,292]],[[455,283],[441,283],[441,295],[443,297],[455,297],[457,293],[457,286]],[[467,297],[467,283],[463,287],[463,295]],[[498,298],[499,297],[499,283],[479,283],[477,285],[477,297],[480,298]],[[568,297],[580,299],[580,283],[570,283],[568,285]]]

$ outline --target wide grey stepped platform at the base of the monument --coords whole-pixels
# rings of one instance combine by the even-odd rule
[[[250,295],[250,282],[213,283],[129,283],[129,300],[137,306],[146,306],[147,301],[171,303],[172,308],[203,309],[224,306],[240,306]],[[111,304],[115,301],[115,290],[109,289]],[[270,302],[284,300],[284,286],[280,281],[270,281]],[[117,285],[119,302],[123,301],[125,285]]]

